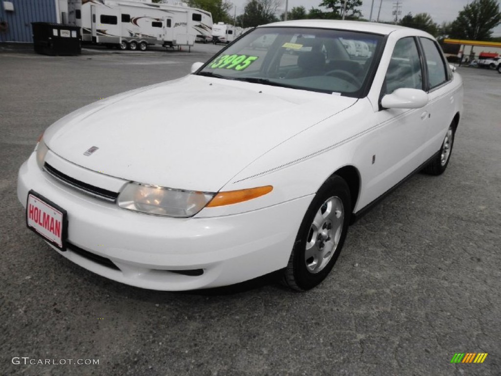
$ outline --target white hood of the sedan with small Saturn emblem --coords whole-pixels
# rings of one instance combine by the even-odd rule
[[[44,140],[61,157],[111,176],[217,192],[267,151],[355,102],[190,75],[81,108]]]

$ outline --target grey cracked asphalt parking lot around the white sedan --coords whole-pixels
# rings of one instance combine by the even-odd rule
[[[309,292],[274,275],[188,293],[133,288],[72,264],[26,228],[17,171],[48,125],[181,77],[219,48],[78,57],[0,49],[0,374],[499,376],[501,75],[493,70],[459,68],[464,116],[447,171],[415,175],[352,226],[333,273]],[[214,110],[224,119],[223,103]],[[451,364],[458,352],[488,355]]]

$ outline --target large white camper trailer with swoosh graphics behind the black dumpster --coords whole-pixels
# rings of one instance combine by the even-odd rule
[[[82,28],[82,41],[124,50],[148,45],[193,46],[210,36],[209,12],[151,0],[68,0],[68,23]]]

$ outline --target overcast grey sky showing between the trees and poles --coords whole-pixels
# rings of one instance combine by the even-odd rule
[[[230,0],[233,5],[236,6],[236,14],[243,13],[243,7],[246,4],[246,0]],[[286,0],[282,0],[283,9],[285,10],[285,2]],[[289,0],[289,10],[294,7],[303,6],[309,11],[312,7],[320,8],[319,4],[322,0]],[[392,11],[393,7],[396,4],[397,0],[374,0],[374,9],[372,11],[372,19],[375,20],[378,15],[379,5],[381,4],[381,21],[390,21],[392,20]],[[371,4],[372,0],[363,0],[363,5],[360,7],[362,12],[362,17],[368,19],[371,14]],[[471,0],[400,0],[400,10],[402,15],[400,17],[405,16],[407,13],[411,12],[413,15],[418,13],[429,13],[433,18],[433,21],[441,24],[443,21],[454,21],[457,17],[459,11],[463,9],[463,7],[471,3]],[[235,10],[232,9],[230,12],[233,15]],[[281,12],[281,13],[282,13]],[[494,31],[494,36],[501,36],[501,27],[497,27]]]

